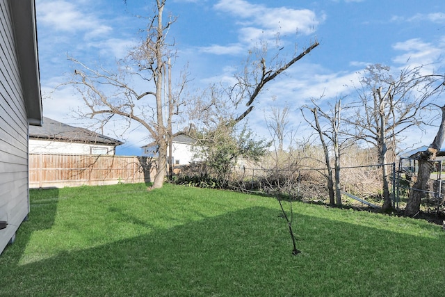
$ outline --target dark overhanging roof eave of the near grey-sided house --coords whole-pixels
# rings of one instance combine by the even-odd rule
[[[34,0],[14,0],[10,3],[13,15],[17,58],[22,76],[26,113],[30,125],[42,124],[42,97],[35,26]]]

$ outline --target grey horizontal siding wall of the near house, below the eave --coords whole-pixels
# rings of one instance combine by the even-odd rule
[[[10,7],[0,0],[0,253],[29,213],[28,120]]]

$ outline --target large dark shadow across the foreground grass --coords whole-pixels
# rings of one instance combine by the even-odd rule
[[[3,266],[0,295],[442,294],[443,237],[397,234],[301,214],[296,218],[298,256],[291,255],[280,211],[252,207],[40,262]],[[30,236],[32,228],[27,232]]]

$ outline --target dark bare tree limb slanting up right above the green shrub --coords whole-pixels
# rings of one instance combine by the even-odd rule
[[[200,106],[200,109],[191,111],[195,125],[201,124],[208,128],[220,126],[222,122],[223,125],[234,127],[252,112],[257,97],[267,83],[283,74],[318,45],[315,41],[301,52],[296,48],[289,60],[286,60],[279,40],[272,49],[268,47],[268,42],[260,42],[249,51],[243,70],[234,75],[235,83],[230,81],[228,84],[212,85],[202,96],[194,98],[193,106]]]

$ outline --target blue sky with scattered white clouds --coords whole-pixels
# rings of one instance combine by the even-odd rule
[[[153,8],[154,0],[36,0],[43,115],[90,127],[75,115],[85,108],[83,100],[70,86],[60,87],[74,72],[68,57],[113,69],[140,42],[144,17],[152,16]],[[291,111],[289,129],[304,131],[300,106],[321,95],[329,102],[350,94],[366,65],[380,63],[395,71],[428,65],[445,73],[442,0],[167,0],[165,15],[170,14],[177,18],[168,33],[177,49],[173,75],[178,78],[188,65],[191,93],[232,81],[260,39],[273,43],[279,33],[283,58],[296,46],[300,52],[320,42],[257,98],[248,124],[259,137],[270,138],[265,117],[283,106]],[[116,125],[98,132],[118,138],[122,127]],[[125,131],[119,133],[125,143],[117,154],[139,155],[140,147],[152,141],[137,125]],[[435,132],[412,130],[406,145],[429,145]]]

